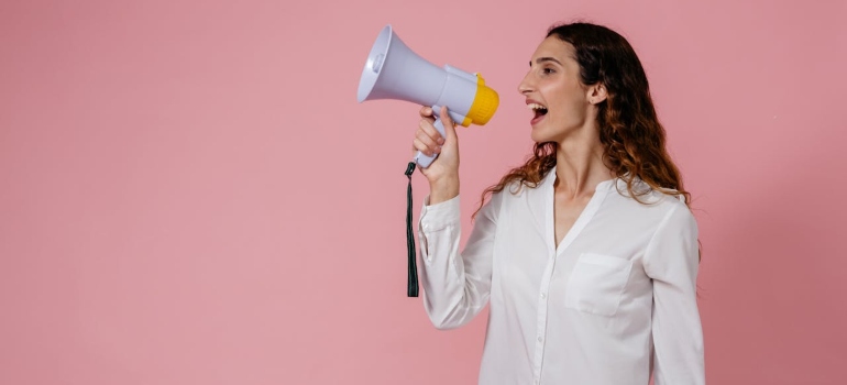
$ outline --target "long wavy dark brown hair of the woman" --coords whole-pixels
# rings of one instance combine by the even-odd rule
[[[664,128],[656,116],[647,75],[626,38],[605,26],[582,22],[553,26],[547,33],[550,36],[573,45],[583,85],[602,84],[606,88],[606,100],[597,105],[603,163],[626,182],[628,194],[646,204],[640,197],[652,189],[683,196],[690,206],[691,195],[683,188],[680,170],[664,148]],[[524,186],[537,187],[556,166],[558,150],[556,142],[536,143],[522,166],[513,168],[483,191],[474,217],[487,196],[513,183],[518,183],[518,190]],[[638,189],[636,178],[650,189]]]

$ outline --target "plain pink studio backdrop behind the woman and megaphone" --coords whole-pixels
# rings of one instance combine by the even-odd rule
[[[470,226],[574,18],[636,47],[694,195],[710,383],[844,384],[847,2],[763,0],[3,1],[0,383],[475,383],[486,315],[405,297],[418,108],[359,75],[392,23],[499,90]]]

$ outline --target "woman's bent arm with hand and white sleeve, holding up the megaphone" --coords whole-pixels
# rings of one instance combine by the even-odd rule
[[[432,127],[431,109],[420,111],[421,123],[415,150],[439,157],[421,173],[430,184],[430,196],[420,213],[419,240],[424,306],[438,329],[468,323],[487,304],[491,295],[494,235],[499,194],[480,210],[465,249],[459,252],[459,146],[446,110],[441,111],[446,136]],[[441,144],[439,146],[439,144]]]

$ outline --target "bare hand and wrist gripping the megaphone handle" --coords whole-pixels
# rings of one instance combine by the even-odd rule
[[[430,205],[450,200],[459,195],[459,138],[455,135],[453,120],[447,113],[447,107],[441,108],[446,138],[436,130],[435,121],[432,109],[421,108],[420,124],[413,143],[413,156],[417,151],[428,156],[438,154],[429,167],[420,168],[420,173],[429,180]]]

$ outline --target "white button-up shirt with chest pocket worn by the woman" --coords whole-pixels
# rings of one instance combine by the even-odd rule
[[[556,246],[551,170],[493,195],[459,252],[459,197],[420,218],[424,305],[439,329],[491,302],[480,384],[705,383],[697,226],[680,200],[601,183]],[[641,183],[641,187],[646,186]],[[617,188],[616,188],[617,187]]]

